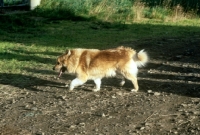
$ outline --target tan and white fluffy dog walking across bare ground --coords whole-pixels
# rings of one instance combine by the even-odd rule
[[[134,49],[123,46],[107,50],[79,48],[66,50],[58,57],[53,70],[59,71],[59,77],[65,71],[76,75],[69,90],[84,84],[87,80],[94,80],[96,92],[100,90],[102,78],[121,74],[133,83],[134,88],[131,91],[137,92],[138,67],[145,66],[148,59],[144,50],[137,53]],[[124,83],[125,79],[122,79],[121,86]]]

